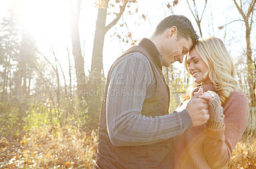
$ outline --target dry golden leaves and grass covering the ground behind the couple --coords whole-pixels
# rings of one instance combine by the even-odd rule
[[[21,140],[1,138],[0,168],[93,168],[97,134],[90,135],[75,126],[41,128],[26,133]],[[225,169],[256,168],[256,136],[243,135]]]

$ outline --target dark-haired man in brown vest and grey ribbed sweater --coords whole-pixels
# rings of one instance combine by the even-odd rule
[[[95,168],[172,168],[170,138],[209,118],[208,101],[193,98],[186,110],[168,114],[169,88],[162,66],[180,63],[198,40],[188,18],[164,18],[150,39],[111,66],[100,112]],[[200,90],[196,96],[202,94]]]

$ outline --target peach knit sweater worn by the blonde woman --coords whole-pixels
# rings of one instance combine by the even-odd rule
[[[212,84],[202,87],[204,92],[214,91]],[[186,106],[186,103],[183,107],[184,105]],[[233,149],[246,129],[248,121],[246,96],[242,92],[234,91],[223,107],[223,114],[224,126],[220,129],[211,129],[207,124],[203,124],[186,129],[182,135],[173,138],[174,168],[211,169],[223,168],[228,164]]]

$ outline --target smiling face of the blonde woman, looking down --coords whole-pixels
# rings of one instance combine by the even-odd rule
[[[195,83],[211,84],[209,75],[205,75],[208,70],[208,66],[205,64],[203,59],[200,57],[195,48],[189,51],[188,55],[188,68],[189,73],[193,75]],[[205,76],[205,77],[204,77]]]

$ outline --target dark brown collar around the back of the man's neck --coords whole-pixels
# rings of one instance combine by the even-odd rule
[[[151,55],[151,57],[154,59],[154,62],[160,70],[162,70],[163,64],[162,64],[162,55],[160,54],[159,50],[157,49],[156,45],[149,39],[143,38],[139,46],[145,48],[145,50],[148,51],[148,53]]]

